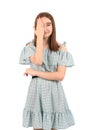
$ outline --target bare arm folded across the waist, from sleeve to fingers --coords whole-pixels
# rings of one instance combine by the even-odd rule
[[[28,76],[28,75],[38,76],[38,77],[41,77],[41,78],[47,79],[47,80],[62,81],[65,77],[65,73],[66,73],[66,67],[65,66],[59,66],[57,68],[56,72],[43,72],[43,71],[33,70],[32,68],[28,68],[24,72],[24,75],[26,75],[26,76]]]

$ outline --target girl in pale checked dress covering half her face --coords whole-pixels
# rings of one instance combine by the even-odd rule
[[[23,110],[23,126],[35,129],[58,130],[74,125],[61,81],[66,67],[74,65],[65,44],[56,41],[54,18],[48,12],[37,15],[34,40],[26,44],[20,64],[29,64],[24,75],[31,75]]]

